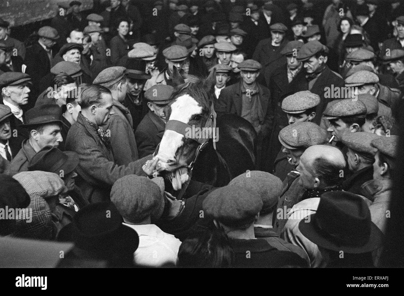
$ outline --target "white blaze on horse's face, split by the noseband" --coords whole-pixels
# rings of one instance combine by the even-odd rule
[[[170,120],[188,123],[192,115],[200,114],[201,112],[202,107],[198,105],[198,102],[193,97],[190,95],[181,95],[171,105]],[[183,144],[182,138],[183,135],[176,131],[167,130],[164,132],[157,154],[158,163],[162,169],[166,169],[165,163],[168,159],[175,159],[175,152]]]

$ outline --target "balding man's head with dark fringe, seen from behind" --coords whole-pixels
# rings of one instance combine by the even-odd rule
[[[310,146],[300,156],[299,184],[306,189],[324,189],[341,183],[345,158],[341,150],[330,145]]]

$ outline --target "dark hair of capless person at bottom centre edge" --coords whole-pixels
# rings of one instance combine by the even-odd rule
[[[231,267],[234,252],[223,230],[213,228],[183,241],[178,251],[178,267]]]

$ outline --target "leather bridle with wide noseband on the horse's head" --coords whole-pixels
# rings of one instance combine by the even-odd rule
[[[200,152],[202,152],[202,150],[208,144],[210,137],[213,137],[213,139],[214,139],[213,148],[215,148],[215,150],[216,150],[216,142],[215,142],[215,138],[216,138],[216,112],[215,112],[215,108],[213,107],[213,102],[212,102],[212,105],[210,105],[209,112],[210,112],[210,115],[209,115],[209,118],[206,120],[205,127],[204,127],[205,131],[206,131],[206,128],[207,128],[209,131],[212,132],[212,133],[209,132],[208,136],[206,136],[206,134],[203,132],[203,129],[202,129],[199,138],[194,137],[193,134],[191,134],[192,137],[189,137],[189,135],[187,133],[187,130],[191,129],[191,131],[194,131],[193,128],[195,128],[195,125],[189,125],[187,123],[183,123],[182,121],[178,121],[178,120],[169,120],[166,123],[166,129],[165,129],[166,131],[167,130],[168,131],[175,131],[175,132],[185,136],[187,139],[192,139],[192,140],[199,143],[199,146],[198,146],[198,148],[196,150],[194,160],[191,161],[191,163],[189,163],[189,165],[183,165],[182,166],[182,167],[186,167],[187,169],[189,169],[191,171],[194,168],[194,164],[195,164],[196,160],[198,159],[198,156],[199,156]],[[213,127],[212,127],[212,125],[213,125]],[[212,128],[212,129],[209,129],[209,128]],[[203,137],[203,135],[205,135],[205,137]],[[160,144],[159,144],[159,146],[160,146]],[[179,167],[179,168],[181,168],[181,167]]]

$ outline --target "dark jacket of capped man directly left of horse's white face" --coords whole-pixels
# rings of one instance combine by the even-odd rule
[[[139,123],[135,138],[139,157],[153,154],[164,135],[166,124],[154,112],[149,111]]]

